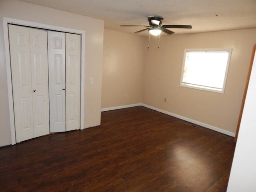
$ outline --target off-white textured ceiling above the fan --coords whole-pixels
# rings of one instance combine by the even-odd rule
[[[192,25],[192,29],[169,28],[174,34],[256,28],[256,0],[21,1],[102,19],[105,28],[128,33],[145,27],[121,27],[120,24],[148,25],[147,17],[152,15],[162,16],[162,25]],[[147,31],[138,34],[148,36]]]

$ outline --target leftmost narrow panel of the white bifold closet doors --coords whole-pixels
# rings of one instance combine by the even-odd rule
[[[34,138],[29,29],[8,25],[16,142]]]

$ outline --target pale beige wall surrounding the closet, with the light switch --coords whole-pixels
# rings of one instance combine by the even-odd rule
[[[0,146],[11,144],[2,18],[85,31],[84,128],[100,124],[104,21],[16,0],[0,1]],[[89,77],[94,84],[89,84]]]

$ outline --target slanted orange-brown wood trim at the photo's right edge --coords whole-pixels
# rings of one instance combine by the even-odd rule
[[[240,114],[239,114],[239,117],[238,117],[238,123],[237,123],[237,127],[236,127],[236,136],[234,138],[234,142],[237,141],[237,137],[238,137],[238,132],[239,132],[240,123],[241,123],[241,119],[242,119],[242,114],[243,114],[243,110],[244,110],[244,103],[245,103],[247,89],[248,89],[249,80],[250,80],[251,71],[252,71],[252,63],[254,61],[255,50],[256,50],[256,45],[254,45],[253,49],[252,49],[252,57],[251,57],[251,61],[250,61],[249,69],[248,69],[246,83],[245,83],[244,95],[243,95],[243,98],[242,98],[242,104],[241,104],[241,108],[240,108]]]

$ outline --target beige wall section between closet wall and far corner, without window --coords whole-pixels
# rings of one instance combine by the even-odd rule
[[[138,35],[104,30],[102,108],[142,102],[146,42]]]

